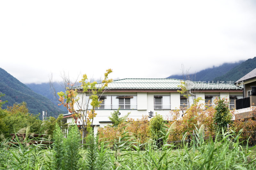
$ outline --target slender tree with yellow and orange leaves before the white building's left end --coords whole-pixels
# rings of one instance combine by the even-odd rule
[[[53,93],[60,101],[59,105],[66,107],[68,112],[72,114],[75,123],[81,125],[82,144],[85,143],[85,137],[88,131],[92,129],[93,119],[97,115],[95,108],[99,107],[102,103],[102,101],[99,100],[100,96],[106,91],[108,83],[112,82],[112,79],[108,79],[108,75],[111,72],[112,69],[106,70],[101,83],[88,81],[87,75],[84,74],[81,81],[79,81],[81,87],[75,87],[77,80],[71,83],[69,77],[64,74],[62,77],[66,92],[58,92],[57,94],[53,87],[53,82],[50,80]],[[86,98],[86,96],[89,96],[89,98]],[[90,100],[91,103],[89,102]],[[89,109],[89,105],[92,106],[92,109]]]

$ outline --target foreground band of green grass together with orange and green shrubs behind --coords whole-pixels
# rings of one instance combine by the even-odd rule
[[[7,134],[11,131],[1,129],[4,138],[0,143],[0,169],[255,169],[255,148],[241,140],[246,128],[255,131],[255,123],[252,120],[230,122],[225,100],[216,99],[217,106],[224,105],[205,110],[197,99],[183,116],[176,110],[168,120],[158,114],[150,121],[147,116],[125,120],[113,114],[112,118],[119,120],[117,124],[100,128],[97,136],[90,130],[85,144],[81,143],[75,122],[69,125],[69,133],[64,134],[58,119],[48,120],[46,126],[45,121],[40,122],[27,113],[24,103],[0,109],[1,127],[8,130],[6,116],[16,115],[20,124],[13,126],[13,131],[25,128],[26,134],[25,138],[16,135],[10,139]],[[227,114],[218,109],[224,109]],[[22,123],[23,119],[33,121],[26,124]],[[230,123],[229,129],[218,122],[222,119]],[[38,137],[37,144],[31,143],[35,140],[29,137],[32,131],[44,134],[50,129],[51,139]],[[45,144],[47,140],[53,144]]]

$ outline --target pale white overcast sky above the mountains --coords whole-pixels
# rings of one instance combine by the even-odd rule
[[[256,1],[0,1],[0,67],[22,83],[62,71],[166,78],[256,56]]]

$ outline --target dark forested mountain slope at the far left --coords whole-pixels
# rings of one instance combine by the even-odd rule
[[[48,115],[57,117],[62,112],[58,106],[53,104],[53,100],[49,100],[32,91],[28,86],[21,83],[2,68],[0,68],[0,92],[5,94],[1,100],[8,101],[2,108],[25,101],[29,112],[35,115],[42,113],[42,111],[47,111]],[[42,119],[42,116],[40,118]]]

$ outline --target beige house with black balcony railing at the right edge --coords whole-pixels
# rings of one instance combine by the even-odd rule
[[[235,82],[237,86],[243,85],[242,99],[237,99],[235,119],[256,117],[256,68]]]

